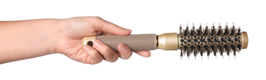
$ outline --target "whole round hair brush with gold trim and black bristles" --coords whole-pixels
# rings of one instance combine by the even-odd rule
[[[102,41],[113,50],[117,50],[117,45],[124,43],[132,51],[138,50],[181,50],[180,59],[186,55],[189,59],[190,55],[194,55],[195,59],[198,54],[201,58],[203,53],[207,53],[208,59],[210,53],[216,57],[217,53],[224,58],[226,53],[230,58],[230,53],[233,53],[236,58],[236,52],[239,53],[241,49],[246,49],[248,45],[248,36],[245,31],[241,31],[240,27],[233,26],[228,28],[227,23],[225,28],[219,23],[218,28],[215,28],[214,23],[211,28],[208,28],[207,23],[205,28],[201,24],[198,29],[193,27],[189,29],[186,26],[182,29],[179,27],[179,34],[164,33],[156,34],[131,34],[125,36],[118,35],[96,35],[85,36],[82,38],[82,47],[84,45],[93,46],[95,40]],[[216,58],[217,59],[217,58]]]

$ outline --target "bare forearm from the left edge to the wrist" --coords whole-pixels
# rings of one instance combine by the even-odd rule
[[[56,53],[60,21],[0,21],[0,64]]]

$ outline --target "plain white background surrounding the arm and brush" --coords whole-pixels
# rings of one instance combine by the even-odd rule
[[[110,63],[102,61],[97,65],[73,61],[63,54],[10,62],[0,65],[0,80],[11,79],[190,79],[190,80],[265,80],[265,2],[262,1],[117,1],[117,0],[75,0],[75,1],[0,1],[0,21],[27,20],[39,18],[70,18],[76,16],[100,16],[124,28],[132,34],[163,34],[178,32],[182,23],[198,27],[225,22],[241,26],[249,38],[248,48],[237,53],[204,54],[203,60],[191,56],[180,60],[180,50],[153,50],[150,58],[137,54],[128,60],[118,59]],[[0,26],[1,27],[1,26]],[[19,46],[19,45],[17,45]],[[1,56],[0,56],[1,58]]]

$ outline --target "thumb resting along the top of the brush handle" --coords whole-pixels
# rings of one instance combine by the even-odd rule
[[[93,17],[94,28],[99,32],[106,32],[115,35],[129,35],[132,30],[124,29],[116,24],[108,22],[100,17]]]

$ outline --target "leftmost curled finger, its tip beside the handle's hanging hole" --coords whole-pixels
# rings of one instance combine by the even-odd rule
[[[100,54],[97,50],[95,50],[91,46],[85,45],[83,47],[83,50],[85,53],[89,55],[89,57],[91,57],[91,61],[89,62],[89,64],[98,64],[102,62],[103,59],[102,54]]]

